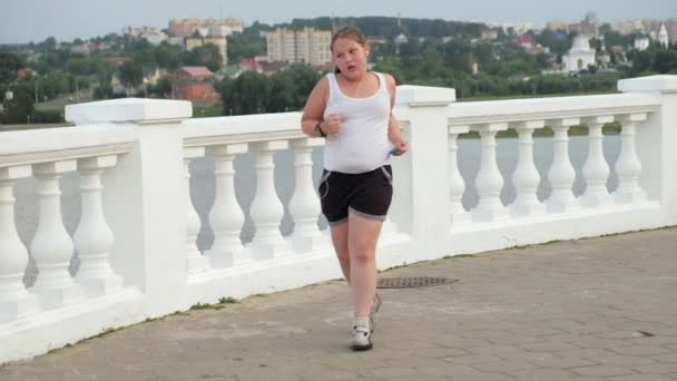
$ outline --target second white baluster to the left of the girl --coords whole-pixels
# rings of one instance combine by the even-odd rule
[[[288,143],[287,140],[258,141],[249,144],[249,148],[256,153],[256,194],[249,211],[256,233],[247,246],[252,247],[257,260],[290,254],[292,245],[279,233],[284,207],[275,192],[273,162],[275,152],[288,148]]]

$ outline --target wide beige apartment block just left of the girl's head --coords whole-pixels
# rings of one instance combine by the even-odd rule
[[[332,32],[328,30],[277,28],[263,35],[266,39],[268,62],[305,62],[311,66],[325,66],[332,61],[330,50]]]

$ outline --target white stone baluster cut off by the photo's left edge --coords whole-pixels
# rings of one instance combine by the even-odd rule
[[[14,183],[30,175],[28,165],[0,168],[0,323],[38,311],[22,281],[28,252],[14,224]]]

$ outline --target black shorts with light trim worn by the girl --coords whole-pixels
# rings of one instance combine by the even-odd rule
[[[384,221],[393,197],[393,169],[384,165],[363,174],[344,174],[324,169],[320,179],[320,203],[330,225],[361,217]]]

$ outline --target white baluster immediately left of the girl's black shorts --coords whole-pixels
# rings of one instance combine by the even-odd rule
[[[296,187],[290,201],[290,214],[294,219],[294,233],[291,236],[295,251],[310,251],[324,247],[328,240],[317,227],[317,217],[322,212],[320,199],[313,185],[313,148],[324,145],[323,139],[302,138],[292,140]]]

